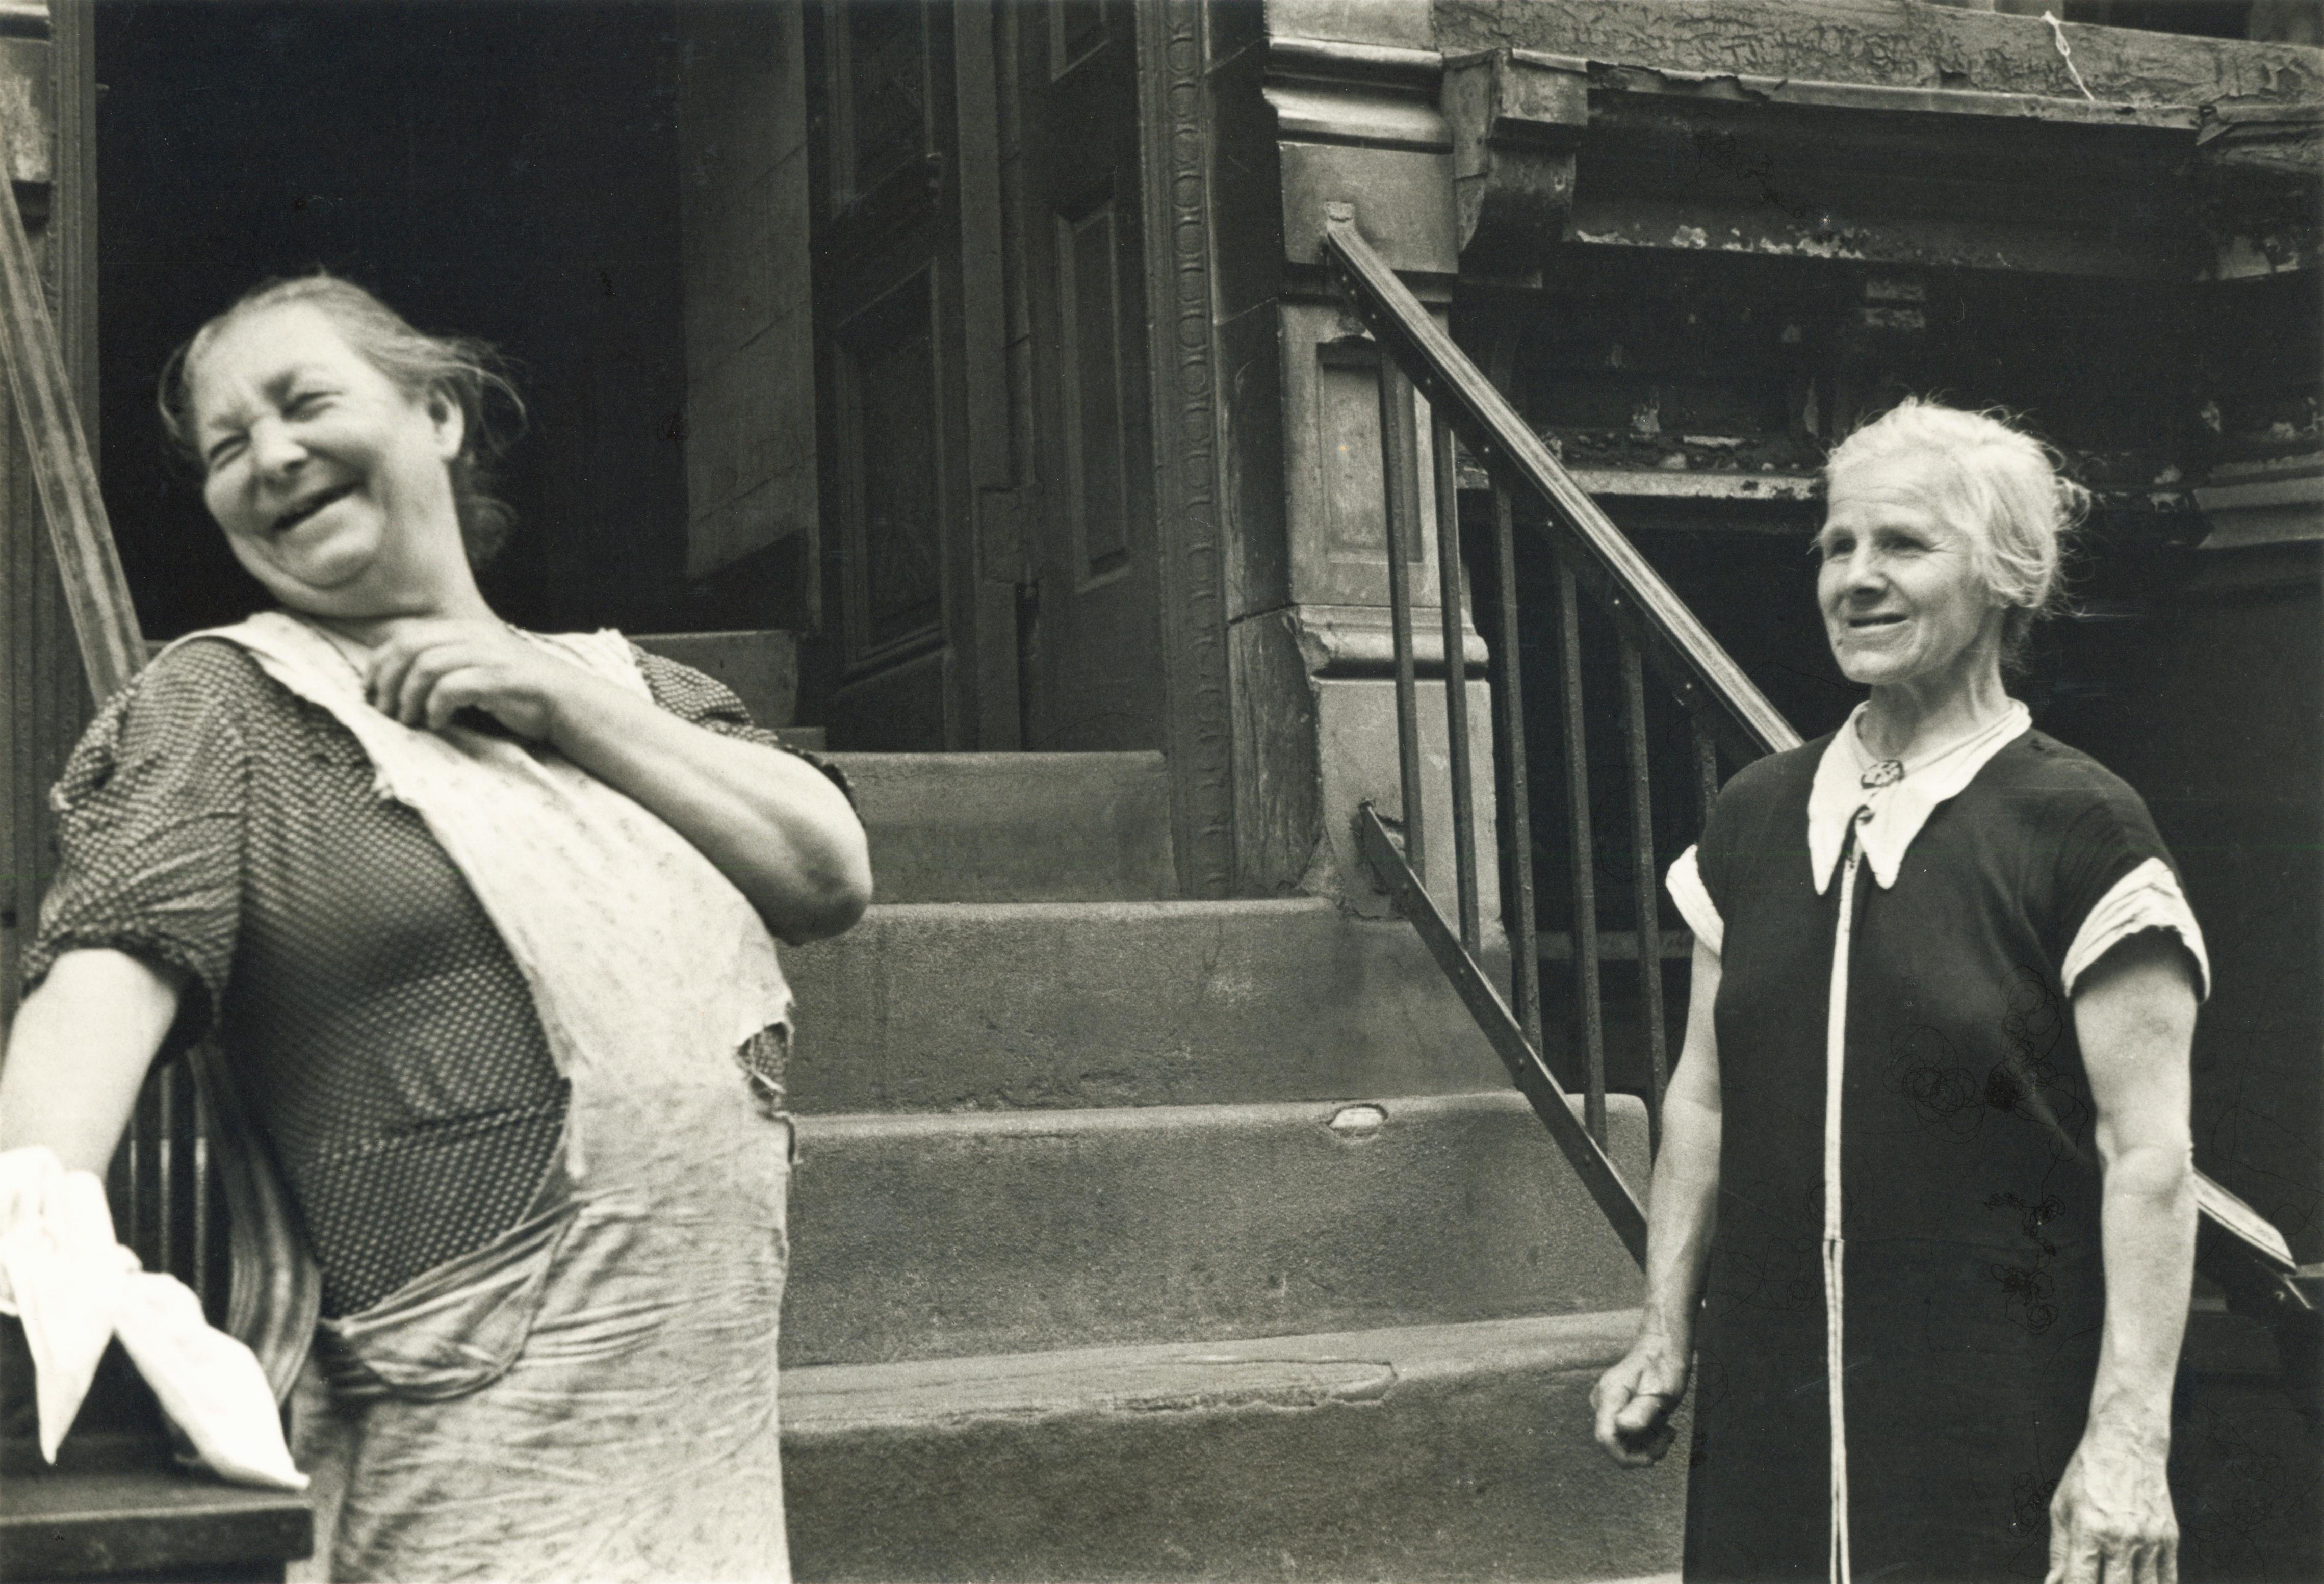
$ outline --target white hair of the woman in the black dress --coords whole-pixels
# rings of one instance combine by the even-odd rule
[[[2066,539],[2089,513],[2089,490],[2066,478],[2057,451],[2013,427],[2001,411],[1971,413],[1906,397],[1834,446],[1829,490],[1875,462],[1917,465],[1931,506],[1961,530],[1985,588],[2006,606],[2001,657],[2024,662],[2033,622],[2066,597]]]

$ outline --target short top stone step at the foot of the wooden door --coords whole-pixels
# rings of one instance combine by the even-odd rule
[[[1162,901],[1160,753],[834,753],[881,901]]]

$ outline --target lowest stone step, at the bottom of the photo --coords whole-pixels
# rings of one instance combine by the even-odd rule
[[[1627,1579],[1678,1565],[1673,1456],[1590,1384],[1634,1312],[783,1373],[797,1577]]]

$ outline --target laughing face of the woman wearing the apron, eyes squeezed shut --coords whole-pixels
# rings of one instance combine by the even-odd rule
[[[311,615],[390,615],[446,574],[460,409],[414,399],[321,309],[232,321],[193,367],[202,502],[251,576]]]

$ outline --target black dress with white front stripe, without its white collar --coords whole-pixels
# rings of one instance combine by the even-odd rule
[[[1829,1396],[1820,1240],[1841,885],[1808,792],[1831,739],[1752,764],[1697,864],[1724,922],[1720,1201],[1697,1338],[1687,1579],[1820,1579]],[[2106,1287],[2092,1099],[2059,969],[2164,859],[2138,794],[2038,732],[1855,885],[1841,1110],[1857,1579],[2038,1579]]]

